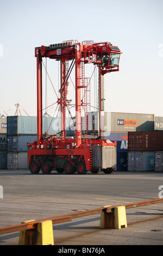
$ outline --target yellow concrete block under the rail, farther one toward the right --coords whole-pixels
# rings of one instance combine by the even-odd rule
[[[117,206],[113,212],[102,212],[99,228],[127,228],[126,208]]]

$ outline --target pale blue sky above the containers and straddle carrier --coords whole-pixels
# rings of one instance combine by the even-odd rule
[[[36,115],[35,47],[77,39],[109,41],[123,52],[120,72],[105,75],[105,111],[162,117],[162,10],[162,0],[0,0],[0,112],[18,102]],[[49,105],[55,101],[49,88]]]

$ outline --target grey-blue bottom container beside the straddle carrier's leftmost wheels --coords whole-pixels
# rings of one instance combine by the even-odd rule
[[[7,169],[28,169],[28,153],[7,153]]]

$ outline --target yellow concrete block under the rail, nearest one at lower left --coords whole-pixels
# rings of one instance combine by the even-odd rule
[[[20,231],[18,245],[54,245],[52,221],[38,222],[37,228]]]

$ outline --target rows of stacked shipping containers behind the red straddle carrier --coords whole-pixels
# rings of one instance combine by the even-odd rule
[[[99,112],[90,112],[88,115],[88,136],[94,138],[99,132]],[[163,117],[154,117],[153,114],[105,112],[104,118],[103,138],[117,142],[116,170],[163,171]],[[43,134],[47,130],[48,135],[59,133],[59,120],[60,118],[43,117]],[[74,136],[73,121],[71,118],[66,119],[67,137]],[[1,117],[0,124],[0,168],[27,169],[27,142],[32,143],[37,139],[37,118],[21,115]]]

